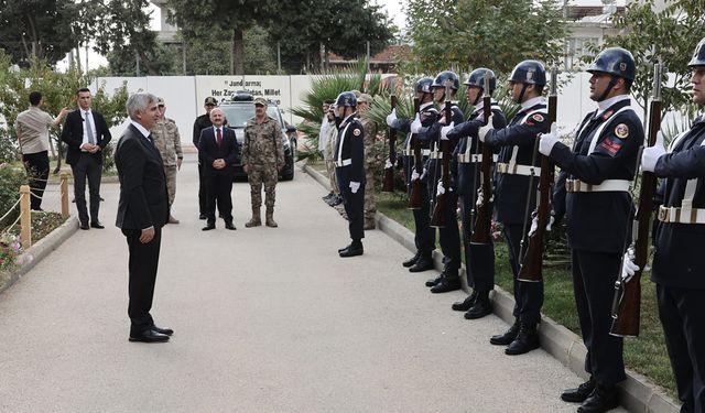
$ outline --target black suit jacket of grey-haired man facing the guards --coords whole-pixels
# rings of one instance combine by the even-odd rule
[[[115,151],[120,178],[116,226],[122,229],[161,228],[169,220],[169,196],[162,156],[132,124]]]

